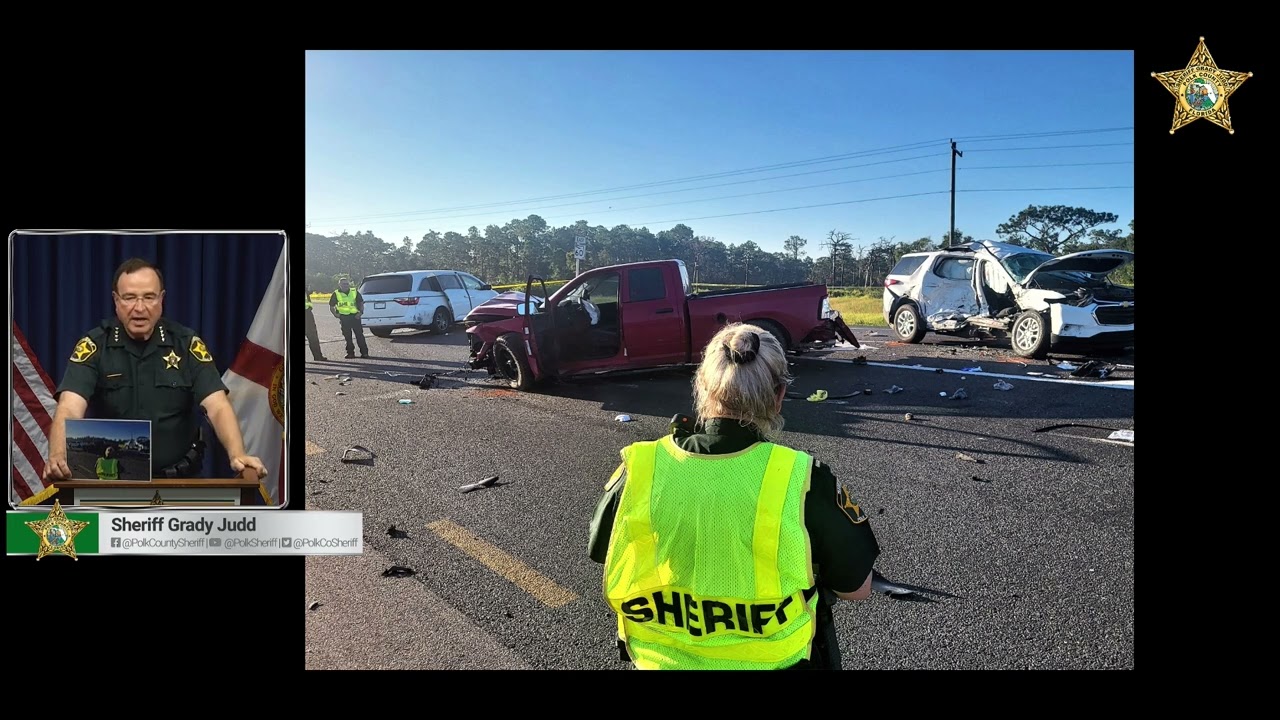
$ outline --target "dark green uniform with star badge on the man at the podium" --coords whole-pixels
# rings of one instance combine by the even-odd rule
[[[140,342],[111,318],[76,343],[55,397],[67,389],[88,400],[88,418],[151,420],[152,477],[184,478],[201,470],[200,401],[227,386],[191,328],[160,318]]]

